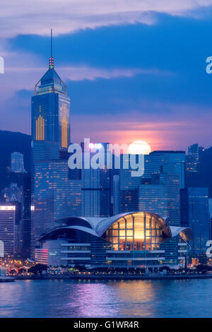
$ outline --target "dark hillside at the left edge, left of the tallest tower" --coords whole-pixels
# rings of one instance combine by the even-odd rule
[[[8,177],[8,167],[11,167],[12,152],[23,153],[25,170],[30,171],[30,146],[30,135],[0,131],[0,191],[11,181]]]

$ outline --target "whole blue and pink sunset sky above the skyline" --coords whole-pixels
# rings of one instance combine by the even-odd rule
[[[1,0],[0,130],[30,134],[30,98],[55,70],[71,141],[212,146],[212,0]]]

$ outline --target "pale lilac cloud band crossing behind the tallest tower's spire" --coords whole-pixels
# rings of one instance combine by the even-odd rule
[[[14,52],[7,42],[0,45],[0,54],[4,57],[4,75],[0,76],[0,83],[4,81],[4,90],[0,90],[1,103],[8,98],[11,100],[16,91],[33,91],[35,83],[47,71],[47,66],[43,66],[43,61],[37,54],[27,52]],[[57,73],[63,81],[94,81],[97,78],[132,78],[136,75],[150,76],[170,76],[169,71],[160,69],[141,69],[141,68],[101,68],[94,66],[61,66],[56,68]]]

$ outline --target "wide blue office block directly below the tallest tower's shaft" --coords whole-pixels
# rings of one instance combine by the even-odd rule
[[[54,220],[81,215],[81,180],[70,179],[66,160],[35,164],[35,200],[31,224],[32,250],[37,237],[56,227]]]

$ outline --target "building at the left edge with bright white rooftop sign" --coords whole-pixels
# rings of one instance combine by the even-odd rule
[[[1,256],[13,255],[15,249],[16,206],[0,206]],[[3,255],[4,253],[4,255]]]

